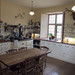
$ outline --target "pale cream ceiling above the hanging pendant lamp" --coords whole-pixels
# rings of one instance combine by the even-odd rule
[[[5,0],[15,4],[19,4],[26,7],[31,7],[32,0]],[[47,8],[52,6],[59,6],[64,4],[75,3],[75,0],[33,0],[34,8]]]

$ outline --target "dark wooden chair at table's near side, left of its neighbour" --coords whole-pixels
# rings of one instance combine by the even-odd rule
[[[25,75],[34,75],[35,70],[35,57],[27,58],[24,61],[24,74]]]

